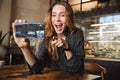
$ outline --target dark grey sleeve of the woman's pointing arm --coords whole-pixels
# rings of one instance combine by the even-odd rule
[[[67,60],[66,66],[70,72],[80,72],[84,71],[84,36],[81,30],[74,32],[73,35],[68,40],[69,46],[71,48],[72,57]]]

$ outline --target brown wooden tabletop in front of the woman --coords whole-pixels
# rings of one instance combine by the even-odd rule
[[[0,69],[0,80],[93,80],[98,77],[96,75],[81,77],[79,74],[70,75],[64,71],[48,71],[32,75],[26,74],[28,72],[25,64],[4,66]]]

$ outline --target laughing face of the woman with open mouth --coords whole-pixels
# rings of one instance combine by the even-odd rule
[[[56,5],[52,10],[52,25],[57,34],[63,33],[66,27],[65,19],[65,7],[62,5]]]

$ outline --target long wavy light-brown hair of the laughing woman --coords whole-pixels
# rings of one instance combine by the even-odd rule
[[[71,6],[69,5],[68,2],[66,1],[56,1],[55,3],[53,3],[51,5],[51,7],[48,9],[47,15],[45,17],[44,23],[45,23],[45,38],[48,40],[48,51],[49,53],[52,55],[52,58],[57,60],[58,57],[58,52],[57,52],[57,48],[53,45],[50,45],[50,42],[52,40],[53,36],[56,36],[56,32],[53,28],[52,22],[51,22],[51,16],[52,16],[52,9],[55,5],[62,5],[65,7],[66,9],[66,22],[67,22],[67,27],[70,30],[70,33],[72,33],[76,27],[74,24],[74,13],[73,10],[71,8]]]

